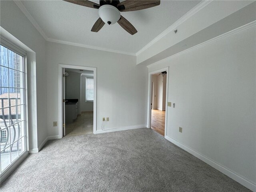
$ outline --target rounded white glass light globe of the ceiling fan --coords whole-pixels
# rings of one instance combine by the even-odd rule
[[[99,16],[104,23],[112,25],[120,19],[120,11],[112,5],[102,5],[99,8]]]

